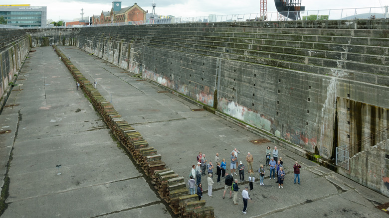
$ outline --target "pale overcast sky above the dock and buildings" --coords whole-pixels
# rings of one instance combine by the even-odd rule
[[[149,12],[153,9],[152,0],[122,0],[122,7],[132,6],[135,2]],[[259,13],[260,11],[260,0],[155,0],[155,3],[157,14],[176,17]],[[58,21],[81,17],[81,8],[84,8],[83,16],[100,15],[102,10],[111,10],[112,0],[0,0],[0,4],[47,6],[47,19]],[[306,10],[380,7],[389,5],[389,0],[302,0],[302,5],[306,6]],[[273,0],[267,1],[267,8],[268,12],[276,11]]]

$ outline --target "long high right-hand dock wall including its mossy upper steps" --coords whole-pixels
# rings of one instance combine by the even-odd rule
[[[387,27],[385,20],[94,27],[81,29],[77,46],[330,159],[338,144],[372,132],[370,120],[357,124],[338,100],[389,108]]]

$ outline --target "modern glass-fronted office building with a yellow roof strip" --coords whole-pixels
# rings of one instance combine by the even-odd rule
[[[46,27],[47,6],[30,4],[0,4],[0,16],[7,25],[20,27]]]

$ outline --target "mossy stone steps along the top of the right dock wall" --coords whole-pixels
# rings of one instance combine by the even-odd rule
[[[341,75],[345,79],[389,85],[389,38],[388,30],[384,29],[248,28],[232,25],[216,28],[206,24],[198,27],[122,26],[87,30],[90,29],[96,34],[88,32],[88,38],[111,37],[112,40],[133,41],[153,49],[321,75]]]

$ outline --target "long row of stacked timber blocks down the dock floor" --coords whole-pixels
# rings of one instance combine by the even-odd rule
[[[82,75],[60,49],[53,47],[113,134],[144,169],[145,174],[152,177],[154,188],[158,190],[160,197],[169,203],[173,212],[185,218],[214,218],[212,207],[205,207],[204,200],[197,201],[197,195],[188,195],[184,177],[165,168],[166,164],[162,161],[162,155],[158,154],[154,147],[149,147],[141,133],[136,131],[114,109],[113,105],[93,87],[93,84]]]

